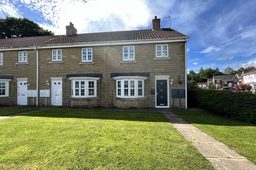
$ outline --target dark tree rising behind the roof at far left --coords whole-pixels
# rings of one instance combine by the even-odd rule
[[[54,35],[26,18],[6,17],[0,19],[0,38],[33,37]]]

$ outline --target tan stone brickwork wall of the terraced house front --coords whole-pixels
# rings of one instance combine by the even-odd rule
[[[123,46],[94,46],[93,63],[81,63],[82,47],[62,49],[62,62],[51,62],[52,49],[38,49],[39,54],[39,90],[51,90],[51,78],[62,78],[62,106],[116,106],[129,107],[155,107],[155,75],[170,75],[169,79],[169,105],[173,107],[171,89],[185,89],[185,43],[169,43],[169,58],[156,60],[156,44],[135,44],[135,62],[123,62]],[[59,49],[59,48],[58,48]],[[18,51],[4,51],[4,65],[0,67],[0,75],[13,75],[10,81],[9,100],[0,97],[0,104],[17,105],[17,78],[28,78],[28,89],[36,89],[36,50],[28,51],[28,64],[15,64],[18,62]],[[150,77],[145,80],[145,98],[143,99],[117,99],[116,81],[110,78],[110,73],[118,72],[149,72]],[[102,78],[97,80],[97,100],[71,99],[71,81],[66,74],[100,73]],[[170,85],[170,80],[173,84]],[[50,82],[47,85],[46,81]],[[182,83],[179,84],[178,81]],[[32,98],[29,105],[33,105]],[[38,99],[39,106],[45,106],[45,99]],[[47,106],[51,105],[51,98],[47,98]],[[174,107],[179,107],[179,100],[174,100]],[[185,108],[185,99],[181,99],[181,107]]]

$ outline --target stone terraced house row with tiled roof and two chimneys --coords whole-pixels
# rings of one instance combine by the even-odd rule
[[[160,23],[78,34],[70,22],[66,35],[0,39],[0,105],[179,107],[189,37]]]

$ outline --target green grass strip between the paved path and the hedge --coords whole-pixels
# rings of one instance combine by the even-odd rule
[[[255,125],[205,111],[175,111],[174,113],[256,163]]]

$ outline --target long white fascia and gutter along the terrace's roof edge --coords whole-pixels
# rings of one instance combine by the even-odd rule
[[[153,43],[174,43],[174,42],[185,42],[187,38],[176,38],[176,39],[159,39],[159,40],[133,40],[133,41],[119,41],[109,43],[81,43],[81,44],[67,44],[67,45],[52,45],[52,46],[35,46],[28,48],[6,48],[0,49],[1,51],[7,50],[22,50],[22,49],[46,49],[46,48],[69,48],[69,47],[94,47],[94,46],[113,46],[113,45],[135,45],[135,44],[153,44]]]

